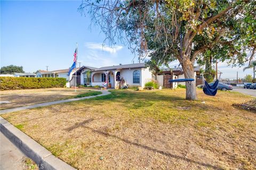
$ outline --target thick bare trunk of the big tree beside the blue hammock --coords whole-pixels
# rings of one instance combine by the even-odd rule
[[[182,69],[185,79],[195,79],[194,64],[189,59],[182,61]],[[196,81],[186,82],[186,99],[197,100]]]

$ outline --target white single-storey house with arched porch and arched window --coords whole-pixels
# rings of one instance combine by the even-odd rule
[[[88,74],[88,71],[91,74]],[[89,78],[87,78],[87,75],[89,75]],[[117,84],[121,78],[130,87],[144,87],[145,83],[152,79],[152,73],[148,68],[145,68],[145,63],[120,64],[100,68],[83,66],[77,71],[77,84],[83,85],[102,86],[104,82],[107,82],[109,88],[117,88]],[[71,84],[74,84],[74,82]]]

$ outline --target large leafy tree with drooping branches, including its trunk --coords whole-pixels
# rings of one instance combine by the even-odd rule
[[[194,78],[195,61],[209,49],[231,64],[252,60],[244,52],[255,47],[254,7],[255,1],[239,0],[98,0],[83,1],[79,10],[90,14],[110,44],[128,44],[154,67],[178,59],[185,78]],[[186,82],[186,99],[197,99],[195,81]]]

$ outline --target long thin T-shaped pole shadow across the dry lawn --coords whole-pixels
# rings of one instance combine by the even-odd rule
[[[83,122],[76,123],[75,125],[70,126],[69,128],[66,128],[64,130],[66,130],[67,132],[70,132],[70,131],[73,131],[76,128],[83,127],[83,128],[86,128],[86,129],[90,129],[94,133],[98,133],[100,135],[104,135],[105,137],[115,138],[115,139],[121,140],[121,141],[123,141],[125,143],[128,143],[130,145],[133,145],[133,146],[136,146],[136,147],[139,147],[139,148],[142,148],[142,149],[147,149],[147,150],[150,150],[150,151],[153,151],[153,152],[157,152],[158,154],[162,154],[162,155],[165,155],[165,156],[168,156],[168,157],[172,157],[172,158],[175,158],[175,159],[185,160],[186,162],[195,163],[195,164],[198,164],[198,165],[201,165],[201,166],[205,166],[205,167],[208,167],[208,168],[223,169],[223,168],[215,166],[215,165],[201,163],[201,162],[198,162],[196,160],[192,160],[192,159],[189,159],[189,158],[186,158],[186,157],[170,154],[169,152],[166,152],[166,151],[162,151],[162,150],[158,150],[158,149],[155,149],[155,148],[151,148],[151,147],[146,146],[146,145],[141,145],[140,143],[133,142],[133,141],[130,141],[130,140],[127,140],[127,139],[123,139],[121,137],[118,137],[117,135],[113,135],[113,134],[109,134],[107,132],[95,130],[95,129],[89,127],[89,126],[86,126],[87,123],[90,123],[93,120],[94,120],[94,118],[89,118],[89,119],[87,119],[87,120],[85,120]]]

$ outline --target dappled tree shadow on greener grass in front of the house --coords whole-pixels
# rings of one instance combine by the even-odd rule
[[[102,103],[118,103],[118,105],[123,105],[127,108],[140,108],[147,107],[157,104],[161,106],[162,101],[170,102],[170,109],[177,110],[189,110],[192,109],[195,111],[221,111],[221,107],[215,107],[201,103],[199,100],[186,100],[185,96],[175,96],[172,94],[163,95],[159,91],[150,91],[150,92],[137,92],[137,91],[125,91],[125,90],[111,90],[111,94],[106,96],[99,96],[88,101],[99,101],[94,102],[93,105],[101,106]],[[83,103],[84,100],[77,101],[77,103]],[[70,103],[71,104],[71,103]]]

